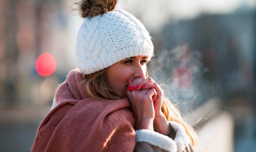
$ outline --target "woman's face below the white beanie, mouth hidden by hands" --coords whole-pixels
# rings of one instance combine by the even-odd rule
[[[134,56],[113,64],[106,71],[107,84],[122,94],[126,93],[128,79],[133,81],[142,75],[146,76],[147,61],[147,56]]]

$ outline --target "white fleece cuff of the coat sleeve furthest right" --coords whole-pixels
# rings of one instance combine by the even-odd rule
[[[185,128],[181,124],[176,123],[175,121],[169,121],[169,123],[176,132],[174,141],[176,142],[177,145],[177,151],[181,152],[185,150],[186,146],[189,144],[189,137],[185,131]]]

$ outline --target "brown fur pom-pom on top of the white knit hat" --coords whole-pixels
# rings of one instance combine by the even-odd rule
[[[115,9],[117,0],[82,0],[74,4],[78,5],[80,16],[93,17]]]

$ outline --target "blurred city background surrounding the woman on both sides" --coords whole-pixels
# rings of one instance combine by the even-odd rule
[[[69,0],[0,0],[0,151],[30,151],[76,67]],[[256,0],[119,0],[154,38],[149,76],[198,130],[202,151],[256,151]]]

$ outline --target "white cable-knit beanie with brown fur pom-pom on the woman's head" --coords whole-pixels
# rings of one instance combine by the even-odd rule
[[[130,13],[115,9],[116,0],[83,0],[85,17],[76,38],[75,57],[82,74],[92,74],[120,60],[154,56],[151,36],[145,26]]]

